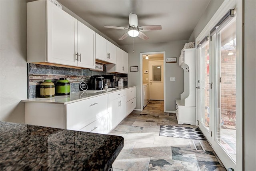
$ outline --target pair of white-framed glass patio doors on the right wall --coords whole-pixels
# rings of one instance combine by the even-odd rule
[[[236,94],[242,88],[237,89],[236,18],[223,20],[208,38],[197,47],[198,126],[222,163],[236,169]]]

